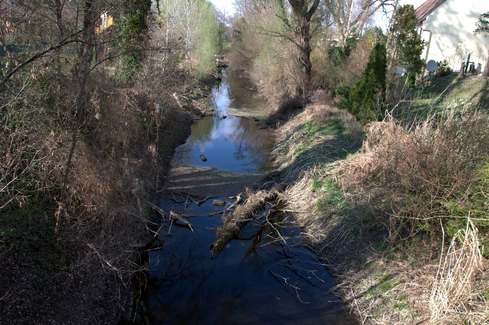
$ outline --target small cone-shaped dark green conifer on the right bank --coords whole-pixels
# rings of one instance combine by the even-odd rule
[[[367,66],[349,96],[349,111],[363,124],[381,118],[381,103],[385,99],[387,50],[384,43],[372,49]]]

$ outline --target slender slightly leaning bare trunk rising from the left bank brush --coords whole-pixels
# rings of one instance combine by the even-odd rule
[[[89,1],[87,1],[87,2],[89,2]],[[91,2],[90,2],[90,10],[91,10]],[[95,0],[95,4],[94,4],[94,11],[96,11],[96,10],[97,10],[97,0]],[[93,13],[92,13],[92,17],[93,17]],[[82,113],[83,113],[84,101],[82,99],[83,99],[83,94],[85,93],[85,87],[87,86],[87,79],[89,77],[89,72],[90,72],[90,69],[89,69],[89,52],[90,52],[90,50],[89,50],[89,47],[91,46],[90,43],[91,43],[91,37],[92,37],[94,28],[95,28],[95,20],[92,19],[89,34],[87,36],[87,43],[85,44],[86,50],[85,50],[85,59],[84,59],[84,63],[83,63],[83,68],[84,68],[83,77],[82,77],[83,82],[82,82],[82,85],[80,87],[80,92],[78,93],[76,124],[75,124],[75,127],[73,128],[73,137],[71,139],[71,149],[69,150],[69,154],[68,154],[68,161],[66,163],[65,176],[63,177],[63,186],[61,188],[61,197],[60,197],[60,201],[59,201],[58,213],[56,216],[56,230],[55,230],[55,236],[54,236],[54,240],[53,240],[53,248],[55,248],[55,249],[58,246],[58,236],[59,236],[59,231],[60,231],[61,215],[63,213],[64,205],[65,205],[64,201],[65,201],[65,195],[66,195],[66,187],[67,187],[67,182],[68,182],[69,169],[71,167],[71,159],[73,158],[73,152],[75,151],[75,147],[76,147],[76,133],[78,131],[78,128],[80,127],[80,120],[82,118]]]

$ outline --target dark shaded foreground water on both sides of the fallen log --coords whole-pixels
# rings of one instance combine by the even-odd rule
[[[300,243],[300,229],[280,213],[258,217],[216,260],[200,228],[178,228],[166,247],[150,253],[159,260],[149,271],[133,317],[140,324],[356,324],[328,289],[334,284]],[[146,322],[146,323],[145,323]]]

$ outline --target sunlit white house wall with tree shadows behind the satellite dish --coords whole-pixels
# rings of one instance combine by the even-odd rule
[[[424,1],[407,0],[402,4],[413,4],[415,9]],[[487,0],[447,0],[432,12],[422,22],[422,38],[428,42],[429,32],[433,33],[431,43],[425,47],[422,58],[428,60],[448,60],[454,70],[459,70],[462,61],[467,60],[470,53],[470,62],[484,65],[488,59],[489,38],[484,35],[473,35],[475,23],[480,15],[489,10]]]

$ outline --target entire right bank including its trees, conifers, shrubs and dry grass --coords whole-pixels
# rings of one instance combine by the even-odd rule
[[[294,5],[238,1],[230,66],[275,105],[281,198],[362,324],[485,324],[487,77],[462,79],[440,62],[422,78],[412,5],[385,36],[355,13],[339,29],[336,2],[309,21],[308,89],[287,34]]]

